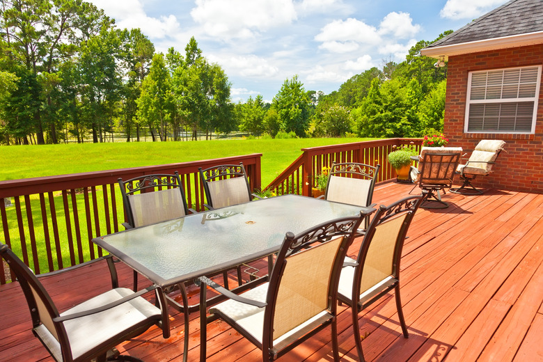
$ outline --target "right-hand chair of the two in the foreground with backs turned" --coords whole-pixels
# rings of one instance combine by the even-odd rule
[[[360,361],[364,361],[364,355],[359,313],[390,290],[395,292],[404,337],[409,336],[400,299],[400,258],[407,230],[423,198],[423,195],[409,196],[388,207],[381,205],[365,232],[356,260],[345,258],[338,300],[352,308],[354,340]]]

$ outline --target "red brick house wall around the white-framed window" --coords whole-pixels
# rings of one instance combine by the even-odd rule
[[[494,173],[476,178],[473,181],[475,187],[543,193],[543,86],[540,86],[535,134],[464,133],[468,72],[542,63],[543,45],[449,57],[443,132],[450,139],[449,145],[464,148],[468,153],[467,159],[481,139],[503,139],[506,142],[505,151],[501,152],[494,165]]]

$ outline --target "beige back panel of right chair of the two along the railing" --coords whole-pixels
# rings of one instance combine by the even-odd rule
[[[214,208],[249,203],[249,191],[245,178],[226,178],[224,180],[207,182],[210,189],[211,200]]]

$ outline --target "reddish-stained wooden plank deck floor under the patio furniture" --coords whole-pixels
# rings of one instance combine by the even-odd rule
[[[411,185],[377,187],[376,203],[390,203]],[[419,210],[402,257],[401,290],[409,338],[402,337],[391,294],[359,314],[368,361],[543,361],[543,195],[488,190],[482,196],[448,193],[445,210]],[[285,230],[287,231],[287,230]],[[352,250],[354,253],[354,247]],[[131,271],[121,267],[121,285]],[[109,287],[105,265],[47,278],[59,308]],[[68,287],[67,287],[68,285]],[[17,283],[0,285],[0,362],[52,361],[34,338]],[[342,361],[357,361],[350,310],[340,306]],[[173,310],[172,310],[173,313]],[[182,315],[171,315],[172,336],[153,328],[120,345],[144,361],[180,361]],[[207,326],[207,361],[261,361],[251,343],[219,321]],[[281,361],[332,361],[329,331]],[[189,361],[198,361],[199,319],[191,315]]]

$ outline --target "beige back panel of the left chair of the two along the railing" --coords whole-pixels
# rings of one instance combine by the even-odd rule
[[[185,215],[183,200],[177,187],[128,195],[128,200],[132,208],[135,228]]]

